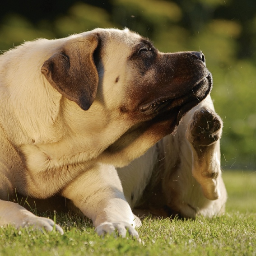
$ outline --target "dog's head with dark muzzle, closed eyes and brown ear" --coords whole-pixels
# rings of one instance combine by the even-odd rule
[[[162,53],[128,29],[95,29],[62,42],[41,71],[84,112],[100,104],[108,116],[125,120],[127,127],[109,152],[142,135],[150,137],[147,150],[174,132],[212,88],[202,53]]]

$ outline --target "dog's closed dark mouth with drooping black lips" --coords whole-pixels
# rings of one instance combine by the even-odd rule
[[[145,115],[158,115],[168,110],[179,108],[177,121],[191,108],[195,107],[210,93],[212,88],[212,76],[209,73],[195,84],[186,94],[168,98],[161,97],[139,107],[139,111]]]

